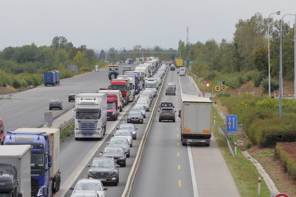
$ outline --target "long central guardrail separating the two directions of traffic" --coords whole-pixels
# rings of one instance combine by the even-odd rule
[[[168,67],[168,69],[169,69],[169,67]],[[166,74],[167,74],[167,71],[166,71]],[[142,155],[144,145],[145,145],[145,142],[146,142],[146,138],[147,138],[149,130],[150,130],[150,125],[152,124],[152,120],[153,120],[153,117],[154,117],[154,112],[156,111],[156,107],[157,107],[156,104],[158,103],[158,101],[160,99],[160,95],[161,95],[161,92],[163,90],[165,79],[166,79],[166,75],[163,78],[163,83],[161,85],[160,91],[158,92],[156,102],[154,104],[154,107],[153,107],[152,112],[151,112],[151,116],[149,118],[149,124],[147,124],[147,127],[146,127],[146,129],[144,131],[144,137],[142,138],[142,140],[140,142],[139,149],[138,149],[138,152],[137,152],[137,155],[136,155],[136,160],[133,163],[132,169],[130,171],[130,175],[127,178],[127,184],[125,186],[125,189],[124,189],[123,194],[122,194],[121,197],[129,197],[130,196],[130,190],[131,190],[131,187],[133,185],[133,181],[134,181],[136,172],[137,172],[138,167],[139,167],[139,163],[140,163],[141,155]]]

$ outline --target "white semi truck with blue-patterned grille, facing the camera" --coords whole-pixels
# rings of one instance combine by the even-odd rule
[[[103,139],[107,124],[107,94],[77,94],[72,118],[75,118],[75,140],[80,138]]]

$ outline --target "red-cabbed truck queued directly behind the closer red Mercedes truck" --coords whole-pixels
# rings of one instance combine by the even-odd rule
[[[127,105],[129,103],[130,91],[129,91],[130,79],[112,79],[110,81],[109,89],[119,89],[124,103]]]

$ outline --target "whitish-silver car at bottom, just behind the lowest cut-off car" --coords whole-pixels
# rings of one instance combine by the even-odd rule
[[[72,194],[76,191],[96,191],[100,197],[106,197],[106,190],[99,179],[79,179],[75,187],[70,187],[71,190],[74,190]]]

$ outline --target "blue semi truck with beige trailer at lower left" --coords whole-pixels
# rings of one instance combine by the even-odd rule
[[[31,145],[31,196],[52,196],[61,184],[60,130],[18,128],[7,131],[4,145]]]

